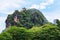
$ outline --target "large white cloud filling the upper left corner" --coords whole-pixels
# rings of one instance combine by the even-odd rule
[[[0,0],[0,12],[9,14],[14,11],[13,9],[20,8],[23,4],[27,3],[24,0]]]

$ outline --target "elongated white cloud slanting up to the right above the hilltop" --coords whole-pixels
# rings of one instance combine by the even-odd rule
[[[42,2],[40,4],[32,4],[30,8],[36,8],[36,9],[46,9],[47,6],[54,3],[54,0],[46,0],[46,2]]]

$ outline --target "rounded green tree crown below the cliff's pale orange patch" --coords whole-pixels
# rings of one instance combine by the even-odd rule
[[[10,33],[13,40],[31,40],[32,35],[26,28],[10,27],[5,32]],[[8,34],[7,34],[8,35]]]

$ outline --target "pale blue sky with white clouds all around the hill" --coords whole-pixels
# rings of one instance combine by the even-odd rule
[[[8,14],[23,7],[40,10],[49,22],[60,19],[60,0],[0,0],[0,32],[5,29]]]

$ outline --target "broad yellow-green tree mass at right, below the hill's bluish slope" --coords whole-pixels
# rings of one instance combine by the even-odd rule
[[[42,27],[33,28],[33,40],[60,40],[60,29],[54,24],[46,24]]]

